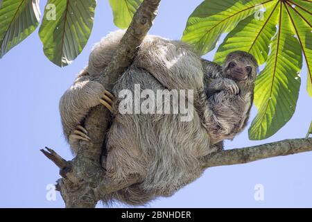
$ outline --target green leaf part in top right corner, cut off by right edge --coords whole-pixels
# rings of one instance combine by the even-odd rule
[[[312,97],[312,2],[309,5],[304,1],[298,3],[294,1],[292,5],[286,2],[285,6],[289,17],[291,17],[293,33],[300,42],[306,60],[308,70],[306,90]]]

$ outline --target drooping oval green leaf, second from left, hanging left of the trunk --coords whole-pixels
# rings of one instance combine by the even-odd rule
[[[92,31],[95,0],[49,0],[39,36],[44,54],[60,67],[83,51]]]

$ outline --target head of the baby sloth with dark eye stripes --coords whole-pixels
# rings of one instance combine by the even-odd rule
[[[250,53],[234,51],[229,53],[223,69],[225,74],[236,81],[253,82],[257,75],[257,61]]]

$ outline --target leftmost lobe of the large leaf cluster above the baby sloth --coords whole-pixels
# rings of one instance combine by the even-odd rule
[[[206,0],[194,10],[187,21],[182,40],[193,44],[205,54],[216,46],[220,35],[231,31],[236,24],[252,14],[257,4],[263,7],[272,0]]]

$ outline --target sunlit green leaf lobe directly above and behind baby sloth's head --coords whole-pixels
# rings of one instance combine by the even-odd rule
[[[269,53],[268,46],[276,33],[275,25],[278,16],[275,9],[278,5],[279,3],[276,3],[267,7],[262,19],[250,15],[239,22],[220,44],[214,56],[214,62],[222,64],[228,53],[237,50],[251,53],[259,65],[266,62]]]

